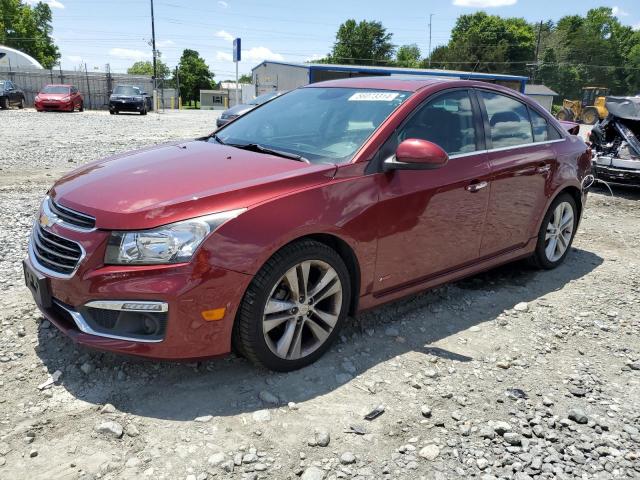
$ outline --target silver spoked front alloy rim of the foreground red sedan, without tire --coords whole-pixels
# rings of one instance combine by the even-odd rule
[[[338,273],[321,260],[305,260],[285,272],[265,304],[262,331],[272,353],[297,360],[320,348],[342,309]]]

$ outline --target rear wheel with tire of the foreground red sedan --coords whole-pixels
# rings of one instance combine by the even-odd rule
[[[560,210],[561,208],[564,210]],[[572,215],[571,221],[569,222],[569,219],[567,219],[565,222],[566,226],[560,224],[560,227],[564,226],[564,228],[558,229],[559,221],[556,219],[561,216],[558,214],[561,213],[562,218],[565,218],[565,215],[569,214],[569,212]],[[549,210],[547,210],[547,213],[542,220],[542,225],[538,232],[536,249],[529,259],[530,262],[535,267],[543,268],[545,270],[556,268],[564,262],[564,259],[567,257],[567,254],[571,249],[571,243],[573,242],[573,238],[576,234],[577,226],[578,207],[576,205],[576,201],[568,193],[561,193],[551,203]],[[556,234],[558,230],[560,233]],[[550,238],[547,238],[548,234],[551,235]],[[554,239],[555,243],[553,243]],[[556,245],[555,248],[551,247],[552,243]],[[564,250],[562,250],[562,247],[564,247]]]

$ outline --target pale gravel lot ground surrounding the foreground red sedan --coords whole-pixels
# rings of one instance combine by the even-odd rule
[[[60,174],[215,114],[0,114],[0,478],[640,478],[640,190],[593,192],[560,268],[363,314],[304,370],[153,363],[74,346],[20,260]]]

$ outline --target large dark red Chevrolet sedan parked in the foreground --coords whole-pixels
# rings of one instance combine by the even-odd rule
[[[507,88],[316,83],[209,137],[61,178],[26,282],[83,345],[163,359],[233,345],[300,368],[348,314],[517,259],[560,265],[590,156]]]

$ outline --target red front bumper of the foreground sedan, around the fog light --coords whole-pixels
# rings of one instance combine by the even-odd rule
[[[250,275],[209,265],[205,252],[192,262],[178,265],[105,266],[102,259],[108,232],[73,232],[59,225],[50,229],[87,251],[71,278],[45,274],[52,302],[49,307],[38,305],[44,316],[74,342],[155,359],[197,359],[229,353],[233,321]],[[26,263],[44,273],[37,259],[27,258]],[[87,318],[87,304],[113,301],[166,305],[162,337],[133,340],[97,331]],[[221,308],[225,309],[221,319],[203,318],[202,312]]]

